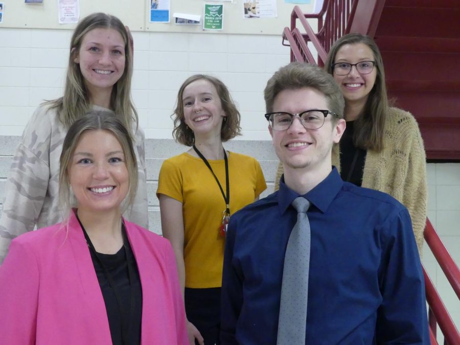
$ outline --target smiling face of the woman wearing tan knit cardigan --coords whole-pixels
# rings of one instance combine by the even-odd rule
[[[372,50],[364,43],[342,45],[334,59],[334,63],[348,62],[354,64],[360,61],[375,61]],[[346,104],[357,103],[364,107],[377,78],[377,67],[374,67],[369,74],[360,74],[356,66],[353,66],[349,74],[338,76],[334,73],[333,76],[340,85]]]

